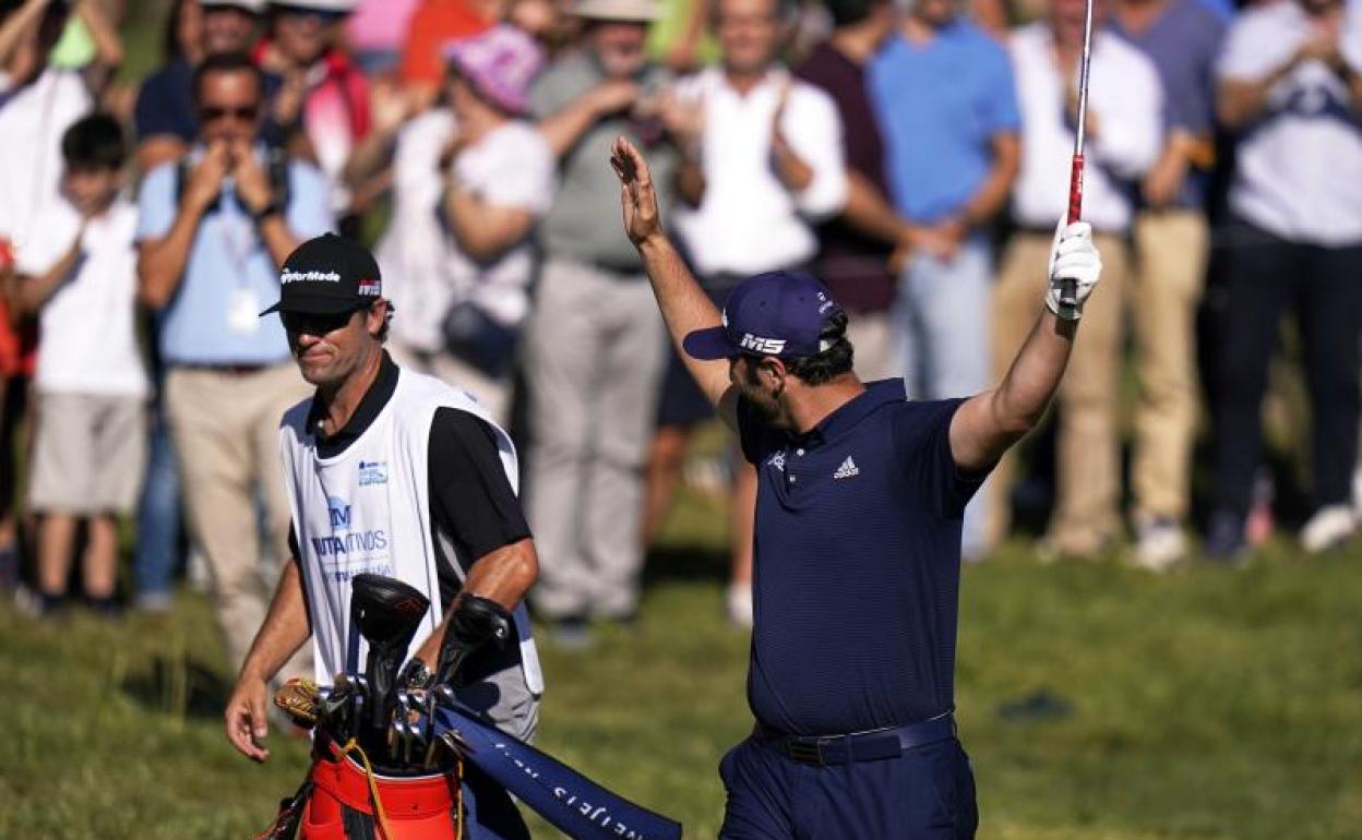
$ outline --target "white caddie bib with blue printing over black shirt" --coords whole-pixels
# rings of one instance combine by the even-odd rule
[[[467,411],[496,430],[497,449],[511,487],[519,491],[515,445],[467,395],[410,370],[398,372],[398,385],[373,423],[335,457],[319,457],[316,438],[306,429],[312,400],[294,406],[279,427],[283,475],[302,561],[302,580],[312,618],[316,678],[331,685],[342,671],[360,673],[368,645],[358,640],[355,662],[347,662],[350,643],[350,579],[369,572],[407,583],[430,599],[430,610],[417,629],[407,656],[443,619],[440,583],[432,532],[428,455],[430,423],[437,408]],[[462,560],[451,564],[463,577]],[[520,671],[524,689],[543,693],[539,658],[530,636],[530,618],[515,610],[520,633]],[[494,677],[501,682],[501,675]]]

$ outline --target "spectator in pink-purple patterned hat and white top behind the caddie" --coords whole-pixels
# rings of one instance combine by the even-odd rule
[[[447,106],[392,144],[394,214],[377,255],[407,314],[390,351],[471,392],[504,423],[530,309],[530,234],[553,197],[553,152],[523,118],[543,57],[505,25],[455,41],[445,57]]]

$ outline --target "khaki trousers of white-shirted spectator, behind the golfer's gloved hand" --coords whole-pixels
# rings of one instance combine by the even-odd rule
[[[1023,231],[1008,242],[993,295],[993,372],[1001,381],[1045,305],[1050,234]],[[1121,310],[1129,279],[1122,238],[1095,234],[1102,252],[1102,283],[1083,312],[1069,368],[1060,384],[1058,500],[1050,540],[1060,551],[1091,554],[1117,532],[1120,456],[1117,384]],[[993,471],[990,545],[1007,534],[1008,498],[1015,472],[1008,453]]]

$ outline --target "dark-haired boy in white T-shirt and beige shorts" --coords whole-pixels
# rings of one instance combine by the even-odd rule
[[[84,594],[112,611],[116,517],[132,512],[146,460],[147,376],[133,335],[138,211],[118,195],[128,150],[117,121],[79,120],[61,151],[63,199],[35,219],[16,267],[16,309],[42,325],[29,508],[41,517],[45,610],[64,598],[86,520]]]

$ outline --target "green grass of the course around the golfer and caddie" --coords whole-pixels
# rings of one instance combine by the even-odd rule
[[[636,633],[609,628],[590,655],[543,645],[539,745],[691,837],[715,835],[715,766],[750,727],[746,637],[720,618],[722,520],[714,500],[678,509]],[[1152,577],[1012,547],[970,566],[957,700],[981,836],[1357,837],[1359,560],[1278,546],[1242,572]],[[0,626],[0,837],[247,837],[304,773],[301,741],[271,738],[264,766],[223,741],[227,675],[200,596],[118,624],[5,606]],[[1000,716],[1039,692],[1069,713]]]

